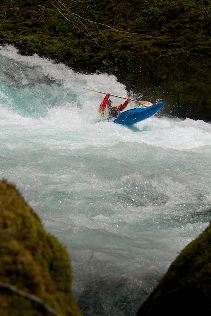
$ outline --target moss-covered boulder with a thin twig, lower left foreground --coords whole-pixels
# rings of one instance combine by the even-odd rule
[[[79,316],[72,279],[65,247],[15,186],[0,181],[0,315]]]

